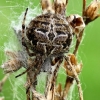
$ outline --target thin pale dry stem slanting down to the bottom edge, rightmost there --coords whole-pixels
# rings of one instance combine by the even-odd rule
[[[68,60],[68,63],[72,69],[72,72],[74,74],[74,78],[75,78],[77,86],[78,86],[80,100],[83,100],[83,92],[82,92],[82,88],[81,88],[80,79],[78,77],[78,74],[77,74],[74,66],[71,64],[70,60]]]

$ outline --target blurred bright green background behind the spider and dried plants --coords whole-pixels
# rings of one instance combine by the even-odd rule
[[[87,5],[90,2],[91,0],[88,0]],[[10,27],[11,22],[18,20],[18,16],[27,7],[34,8],[38,4],[39,0],[0,0],[0,65],[6,59],[4,55],[5,43],[8,43],[10,40],[11,44],[13,42],[16,43],[16,41],[12,41],[15,37]],[[67,7],[68,15],[81,14],[81,10],[82,0],[69,0]],[[100,100],[100,18],[85,28],[83,41],[77,57],[79,61],[83,62],[80,79],[84,100]],[[16,74],[18,73],[10,76],[9,80],[4,84],[3,91],[0,93],[0,96],[4,96],[5,100],[21,100],[25,98],[25,80],[21,78],[15,79]],[[3,76],[4,72],[0,69],[0,80]],[[62,76],[60,79],[63,80]],[[78,93],[73,95],[73,98],[74,100],[78,100]]]

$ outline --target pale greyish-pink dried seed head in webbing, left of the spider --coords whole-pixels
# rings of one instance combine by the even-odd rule
[[[22,59],[22,54],[19,52],[6,51],[6,55],[9,56],[9,60],[1,65],[6,73],[19,70],[25,65],[25,61]],[[24,61],[24,62],[23,62]]]

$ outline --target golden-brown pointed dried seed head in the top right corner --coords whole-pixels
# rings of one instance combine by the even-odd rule
[[[93,0],[84,12],[85,23],[88,24],[89,22],[100,17],[100,14],[98,13],[99,10],[100,10],[100,1],[99,0]]]

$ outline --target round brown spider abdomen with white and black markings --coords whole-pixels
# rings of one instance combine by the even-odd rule
[[[59,14],[44,14],[30,22],[26,36],[38,53],[59,54],[68,52],[72,30],[65,17]]]

